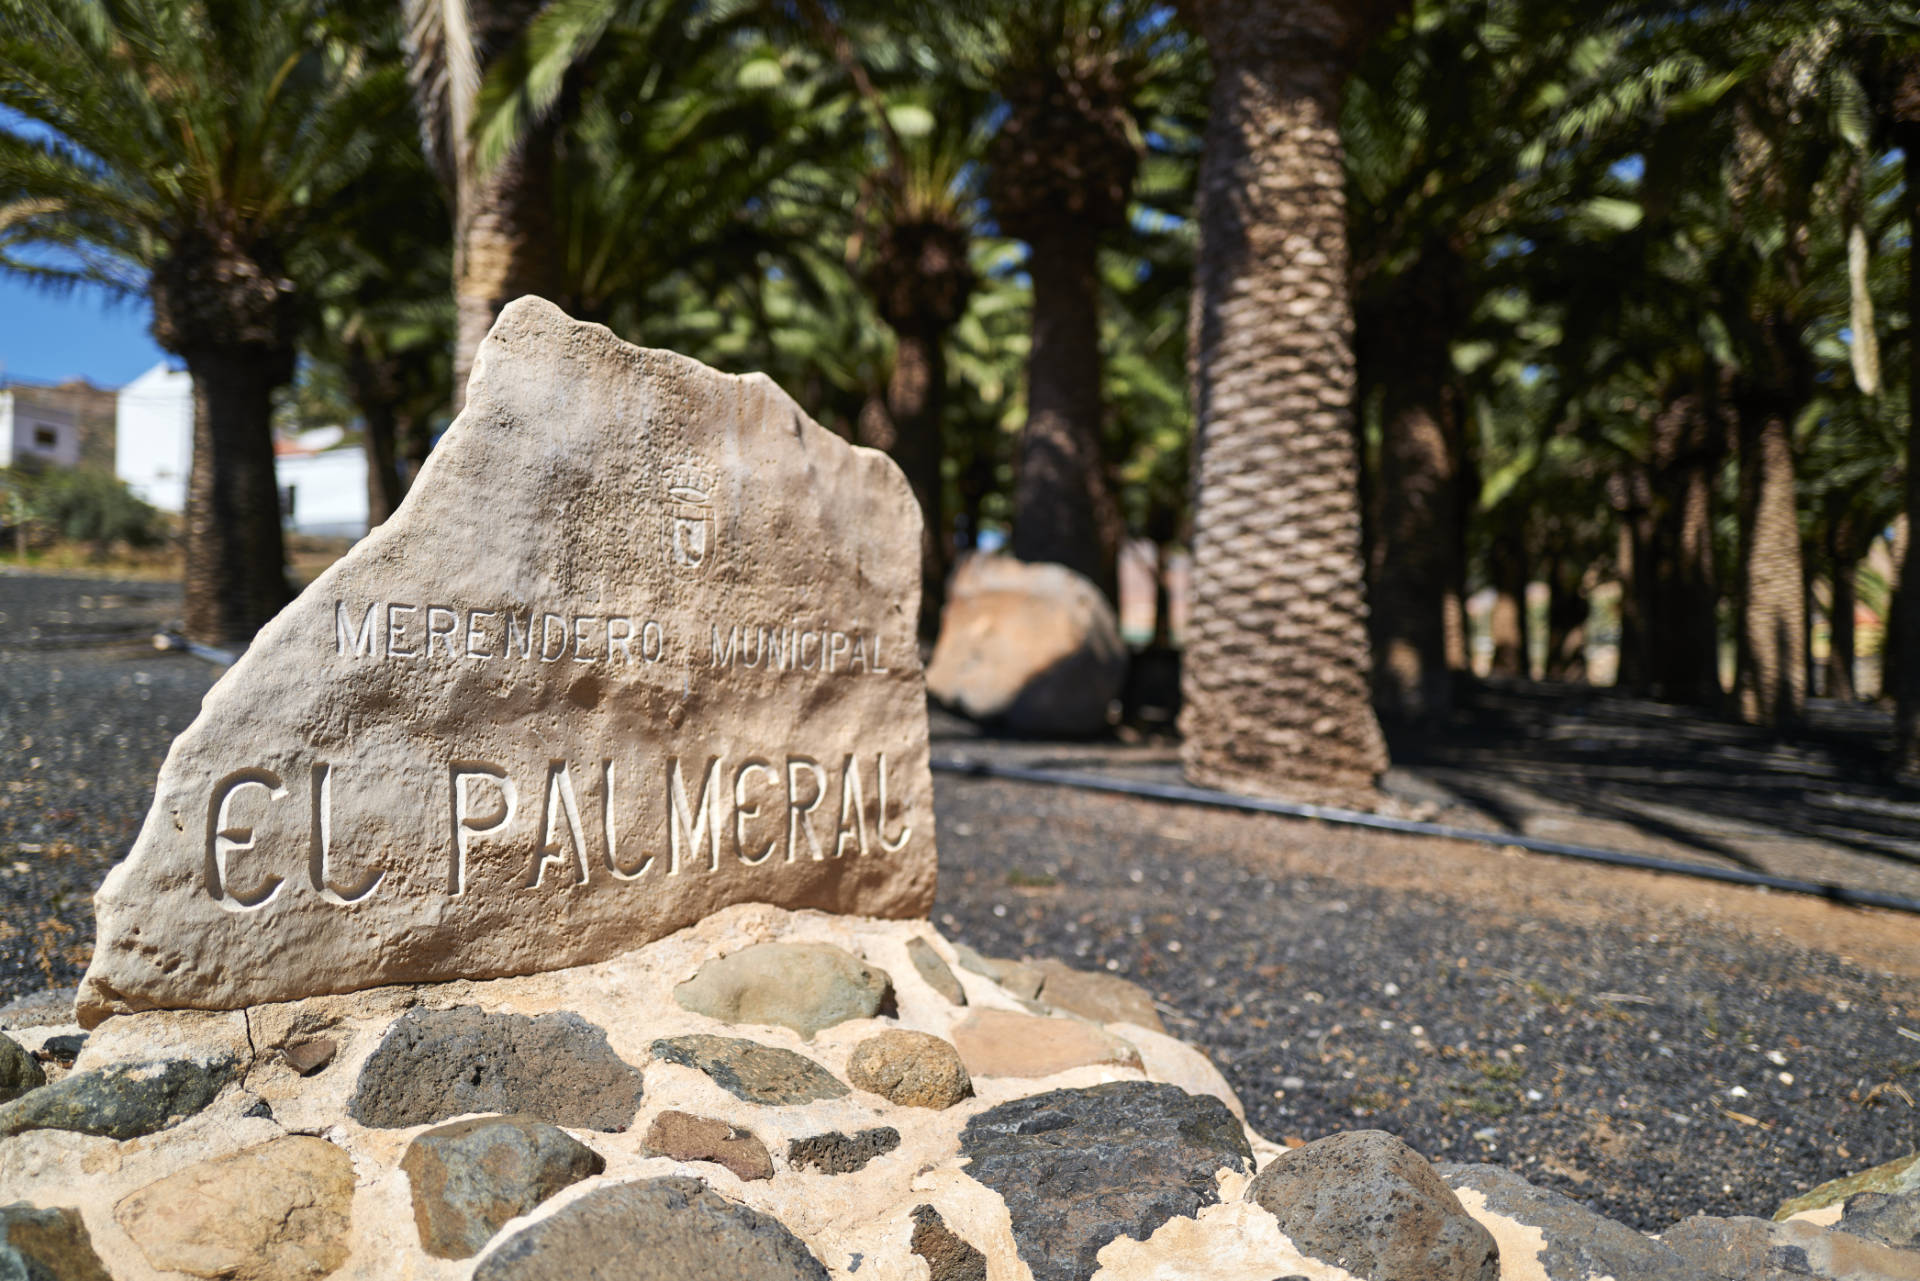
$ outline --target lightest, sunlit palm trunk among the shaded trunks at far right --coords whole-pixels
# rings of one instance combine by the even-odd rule
[[[1807,601],[1793,440],[1776,405],[1741,411],[1740,499],[1740,716],[1786,730],[1807,701]]]

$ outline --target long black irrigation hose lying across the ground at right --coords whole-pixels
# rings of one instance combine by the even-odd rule
[[[1475,832],[1473,828],[1452,828],[1444,822],[1415,822],[1411,818],[1386,818],[1384,814],[1365,814],[1361,810],[1331,809],[1325,805],[1294,805],[1288,801],[1263,801],[1260,797],[1236,797],[1210,787],[1188,787],[1185,784],[1150,784],[1127,778],[1106,778],[1102,774],[1079,774],[1073,770],[1037,770],[1023,764],[989,764],[972,759],[933,759],[933,768],[943,774],[972,774],[973,778],[1006,778],[1021,784],[1054,784],[1060,787],[1081,787],[1087,791],[1112,791],[1123,797],[1144,797],[1150,801],[1173,801],[1177,805],[1210,805],[1213,809],[1250,810],[1256,814],[1284,814],[1288,818],[1317,818],[1319,822],[1344,824],[1350,828],[1375,828],[1379,832],[1400,832],[1405,835],[1440,835],[1452,841],[1478,841],[1480,845],[1513,845],[1536,855],[1557,855],[1561,858],[1584,858],[1586,862],[1605,862],[1617,868],[1642,868],[1644,872],[1672,872],[1676,876],[1697,876],[1709,882],[1728,882],[1734,885],[1764,885],[1788,893],[1814,895],[1849,906],[1882,906],[1893,912],[1920,914],[1920,899],[1880,893],[1878,889],[1851,889],[1832,882],[1803,882],[1791,876],[1768,876],[1766,872],[1747,872],[1745,868],[1715,868],[1701,862],[1676,862],[1655,858],[1653,855],[1630,855],[1619,849],[1599,849],[1597,845],[1572,845],[1569,841],[1548,841],[1538,835],[1515,835],[1509,832]]]

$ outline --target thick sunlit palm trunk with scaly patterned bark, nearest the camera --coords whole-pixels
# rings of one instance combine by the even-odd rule
[[[1363,799],[1369,701],[1340,88],[1384,0],[1200,0],[1188,778]]]

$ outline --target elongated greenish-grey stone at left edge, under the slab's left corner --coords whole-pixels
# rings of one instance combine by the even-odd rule
[[[230,1074],[230,1060],[205,1064],[188,1058],[75,1072],[0,1104],[0,1137],[29,1129],[71,1129],[106,1139],[138,1139],[205,1108]]]

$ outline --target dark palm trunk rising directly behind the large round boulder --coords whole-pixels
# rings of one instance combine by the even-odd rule
[[[1033,242],[1027,426],[1014,486],[1014,555],[1056,561],[1119,592],[1119,507],[1100,449],[1100,273],[1091,234]]]

